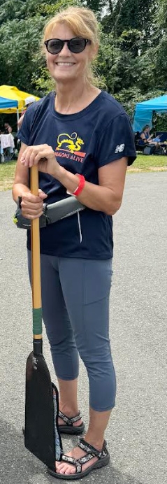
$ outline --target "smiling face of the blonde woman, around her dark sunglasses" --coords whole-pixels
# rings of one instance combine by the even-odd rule
[[[76,37],[76,35],[65,24],[57,24],[50,34],[50,38],[60,38],[63,41],[70,40],[73,37]],[[86,45],[85,50],[78,54],[73,54],[66,43],[58,54],[53,55],[46,50],[47,66],[52,78],[57,83],[64,81],[71,83],[72,80],[84,78],[91,57],[92,51],[89,44]]]

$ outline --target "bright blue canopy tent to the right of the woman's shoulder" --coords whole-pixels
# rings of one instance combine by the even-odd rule
[[[153,113],[167,113],[167,94],[136,104],[133,131],[142,131],[145,124],[152,126]]]

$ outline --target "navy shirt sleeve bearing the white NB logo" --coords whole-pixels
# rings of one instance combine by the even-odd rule
[[[134,134],[126,113],[118,115],[103,129],[96,148],[99,167],[122,157],[128,157],[129,165],[136,159]]]

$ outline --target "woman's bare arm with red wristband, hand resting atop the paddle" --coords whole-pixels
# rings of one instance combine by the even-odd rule
[[[39,171],[49,173],[73,193],[78,187],[78,176],[60,166],[55,152],[49,145],[29,146],[20,157],[24,167],[38,164]],[[99,168],[99,185],[86,181],[78,200],[85,206],[113,215],[122,202],[124,180],[126,174],[127,157],[117,159]]]

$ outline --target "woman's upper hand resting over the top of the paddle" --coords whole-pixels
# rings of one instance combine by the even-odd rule
[[[54,176],[54,178],[57,178],[61,171],[61,166],[57,162],[55,152],[49,145],[28,146],[28,148],[22,153],[20,162],[28,168],[38,164],[39,171],[48,173],[49,175]]]

